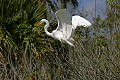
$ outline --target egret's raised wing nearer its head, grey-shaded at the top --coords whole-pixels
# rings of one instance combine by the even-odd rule
[[[56,16],[58,19],[57,30],[61,30],[68,39],[72,33],[72,14],[65,9],[60,9],[56,12]]]

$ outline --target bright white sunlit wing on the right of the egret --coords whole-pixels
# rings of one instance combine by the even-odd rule
[[[72,25],[72,28],[76,29],[77,26],[89,27],[91,26],[91,23],[83,17],[75,15],[72,16]]]

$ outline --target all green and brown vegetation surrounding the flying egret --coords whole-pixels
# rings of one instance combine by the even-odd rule
[[[69,1],[60,0],[60,8]],[[77,7],[77,0],[71,1]],[[0,79],[119,80],[120,1],[106,0],[107,18],[93,19],[93,36],[91,28],[77,29],[75,47],[47,36],[44,25],[34,27],[35,22],[50,17],[46,2],[55,12],[51,0],[0,0]],[[51,29],[56,25],[54,21]]]

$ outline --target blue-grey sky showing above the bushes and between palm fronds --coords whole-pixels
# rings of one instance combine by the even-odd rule
[[[77,0],[77,1],[79,4],[78,4],[78,7],[76,7],[76,9],[74,9],[74,6],[72,5],[71,2],[67,3],[67,9],[72,14],[78,14],[86,18],[90,22],[93,22],[93,18],[95,18],[95,14],[96,16],[100,15],[102,20],[106,18],[106,4],[105,4],[106,0],[96,0],[96,7],[95,7],[95,0]],[[59,0],[54,0],[53,2],[55,2],[56,5],[58,6],[56,7],[56,9],[60,8]],[[52,13],[51,16],[53,16],[54,15],[53,12],[51,13]],[[54,18],[52,20],[54,20]]]

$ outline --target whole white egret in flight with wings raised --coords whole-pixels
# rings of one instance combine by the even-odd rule
[[[71,46],[74,46],[75,41],[71,35],[74,34],[76,27],[91,26],[91,23],[89,21],[80,17],[79,15],[72,16],[72,14],[66,9],[58,10],[55,15],[58,21],[58,27],[53,30],[52,33],[48,32],[47,30],[49,27],[49,22],[46,19],[42,19],[41,21],[37,22],[35,26],[39,26],[41,23],[46,23],[44,30],[48,36],[51,36],[60,42],[68,43]]]

